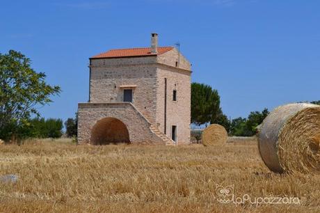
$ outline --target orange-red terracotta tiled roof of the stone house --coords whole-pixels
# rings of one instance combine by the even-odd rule
[[[134,56],[159,56],[165,52],[170,51],[173,47],[158,47],[158,53],[152,54],[150,47],[143,48],[131,48],[131,49],[111,49],[108,52],[98,54],[91,58],[122,58],[122,57],[134,57]]]

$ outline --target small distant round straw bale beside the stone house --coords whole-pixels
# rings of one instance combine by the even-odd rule
[[[209,125],[202,132],[203,145],[219,145],[227,142],[227,131],[225,127],[217,124]]]

